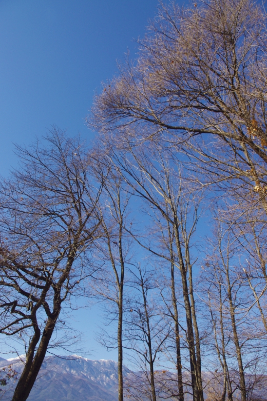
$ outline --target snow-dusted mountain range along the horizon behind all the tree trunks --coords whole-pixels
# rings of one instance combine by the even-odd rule
[[[0,358],[0,371],[3,367],[8,367],[12,364],[12,369],[21,373],[24,366],[25,356],[22,355],[17,358],[3,359]],[[40,374],[37,377],[35,385],[28,397],[28,401],[117,401],[118,400],[118,363],[113,360],[92,360],[83,358],[78,355],[69,356],[47,356],[42,365]],[[132,372],[124,367],[125,378],[125,395],[127,392],[128,384],[135,382],[135,395],[139,393],[142,388],[142,374],[141,372]],[[0,378],[3,374],[0,375]],[[160,377],[164,379],[169,378],[170,383],[176,386],[176,376],[168,371],[158,371],[157,380],[160,382]],[[213,381],[214,375],[203,373],[203,380],[208,383]],[[251,398],[253,401],[267,401],[267,376],[262,375],[258,377],[258,382],[255,382],[255,376],[246,376],[246,382],[253,383],[254,396]],[[166,382],[165,382],[166,383]],[[0,401],[10,401],[14,391],[14,380],[8,380],[7,386],[0,387]],[[184,388],[186,390],[186,388]],[[187,388],[189,390],[189,388]],[[206,388],[207,390],[207,388]],[[205,392],[206,392],[205,390]],[[161,395],[162,396],[162,395]],[[205,394],[206,398],[207,394]],[[239,399],[239,392],[235,393],[236,398]],[[159,398],[163,401],[165,397]],[[126,398],[125,398],[126,399]],[[139,393],[139,399],[148,401],[146,396]],[[167,398],[171,399],[177,398]],[[187,393],[185,400],[190,401],[192,398]]]

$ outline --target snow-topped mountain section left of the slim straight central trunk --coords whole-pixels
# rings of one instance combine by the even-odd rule
[[[0,367],[12,364],[20,373],[24,355],[13,359],[0,358]],[[78,355],[48,356],[35,382],[29,401],[117,401],[118,363],[113,360],[91,360]],[[124,374],[130,371],[124,368]],[[1,401],[9,401],[14,383],[9,381]],[[5,393],[4,393],[5,392]],[[0,393],[1,395],[1,393]]]

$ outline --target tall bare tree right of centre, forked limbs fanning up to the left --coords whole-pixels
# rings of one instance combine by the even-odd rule
[[[190,242],[198,221],[198,202],[194,201],[194,195],[190,196],[192,190],[181,185],[179,166],[177,166],[176,160],[167,156],[167,152],[164,152],[161,144],[155,141],[138,148],[128,145],[128,150],[125,151],[125,149],[116,148],[113,144],[110,158],[120,169],[122,176],[135,195],[143,199],[147,207],[147,215],[154,214],[155,219],[162,222],[166,244],[169,244],[169,233],[166,226],[168,223],[171,226],[175,259],[169,253],[169,245],[163,251],[158,248],[155,235],[145,236],[145,238],[138,238],[134,233],[132,235],[143,248],[157,257],[175,263],[179,269],[186,314],[186,342],[189,350],[192,389],[194,400],[202,400],[200,336],[193,289],[193,263],[190,260],[192,254]],[[196,208],[191,207],[192,205],[195,205]],[[192,226],[188,227],[191,223]],[[178,374],[180,373],[178,372]],[[181,382],[180,389],[182,389]]]

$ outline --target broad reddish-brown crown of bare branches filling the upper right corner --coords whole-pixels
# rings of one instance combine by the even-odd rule
[[[266,211],[266,43],[255,1],[160,3],[137,61],[96,96],[90,122],[136,145],[160,136],[200,184],[252,189]]]

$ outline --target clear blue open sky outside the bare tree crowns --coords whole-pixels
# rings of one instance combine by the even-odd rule
[[[101,81],[116,73],[116,60],[143,36],[157,0],[0,0],[0,174],[16,165],[12,143],[29,144],[52,125],[92,133],[84,118]],[[117,359],[94,340],[99,309],[80,310],[95,359]],[[4,355],[3,355],[4,356]],[[9,355],[11,356],[11,355]],[[5,356],[4,356],[5,357]],[[7,357],[7,356],[6,356]]]

